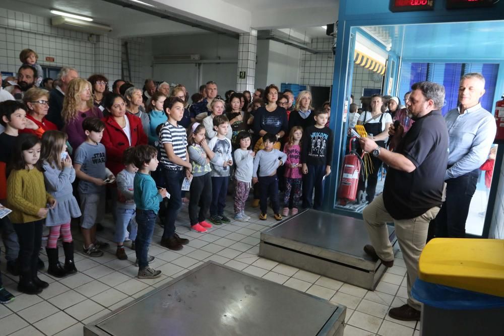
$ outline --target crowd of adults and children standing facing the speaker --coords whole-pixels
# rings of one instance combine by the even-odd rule
[[[181,84],[148,79],[138,88],[116,80],[109,91],[103,75],[83,79],[69,67],[54,81],[44,79],[36,59],[35,51],[23,50],[17,80],[0,90],[0,202],[12,211],[0,221],[7,270],[20,276],[20,292],[48,286],[37,276],[44,227],[51,276],[77,272],[72,223],[80,227],[83,252],[102,256],[109,244],[96,232],[106,209],[117,258],[128,259],[130,242],[138,278],[149,279],[161,274],[149,267],[156,222],[164,228],[162,246],[180,250],[189,242],[175,232],[184,202],[191,230],[201,233],[231,222],[224,213],[228,194],[234,220],[250,220],[250,189],[260,220],[267,220],[268,205],[278,221],[300,207],[322,207],[332,161],[330,107],[315,110],[309,91],[294,101],[291,91],[270,85],[253,95],[230,90],[222,99],[210,81],[190,104]],[[0,282],[0,301],[12,299]]]

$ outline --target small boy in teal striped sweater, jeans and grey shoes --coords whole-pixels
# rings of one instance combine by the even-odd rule
[[[133,199],[137,206],[135,219],[138,232],[135,240],[135,252],[138,260],[138,279],[154,279],[161,276],[161,271],[149,267],[147,252],[154,233],[154,224],[159,211],[159,203],[169,196],[166,189],[156,188],[156,182],[150,172],[158,166],[157,150],[149,145],[137,146],[133,153],[133,163],[138,167],[133,180]]]

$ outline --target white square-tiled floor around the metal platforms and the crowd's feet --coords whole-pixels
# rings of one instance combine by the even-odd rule
[[[231,214],[232,201],[227,202],[226,212]],[[163,272],[162,277],[138,280],[138,268],[133,265],[134,251],[127,248],[129,260],[118,260],[115,247],[104,256],[88,258],[77,249],[75,255],[79,273],[63,279],[53,279],[45,273],[39,277],[50,283],[40,295],[21,294],[16,290],[17,277],[5,272],[2,253],[4,285],[16,295],[16,299],[0,305],[0,336],[3,335],[82,335],[83,325],[140,297],[207,260],[229,265],[258,277],[310,293],[347,307],[345,336],[382,335],[416,336],[419,323],[393,320],[387,315],[390,307],[406,302],[406,268],[398,253],[394,267],[383,277],[376,291],[342,283],[320,275],[299,270],[276,261],[258,257],[260,231],[276,224],[276,221],[260,221],[258,209],[247,208],[252,219],[248,223],[232,222],[216,226],[208,233],[192,232],[188,228],[187,208],[183,207],[177,220],[177,232],[191,240],[180,251],[170,251],[159,245],[162,228],[156,226],[149,254],[156,259],[151,263]],[[273,214],[268,214],[272,219]],[[99,233],[101,239],[112,238],[111,222],[105,222],[106,230]],[[73,231],[76,246],[82,245],[78,229]],[[3,246],[2,246],[3,250]],[[60,255],[63,251],[59,249]],[[47,260],[45,251],[41,257]],[[63,260],[64,258],[60,258]],[[47,263],[46,263],[47,264]]]

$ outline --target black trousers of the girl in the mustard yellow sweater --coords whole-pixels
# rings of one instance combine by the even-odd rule
[[[21,275],[25,277],[34,277],[37,275],[43,223],[44,220],[14,224],[14,230],[18,234],[19,240],[19,269]]]

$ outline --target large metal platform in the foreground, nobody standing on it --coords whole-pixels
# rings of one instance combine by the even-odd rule
[[[84,327],[95,335],[337,335],[346,307],[208,261]]]

